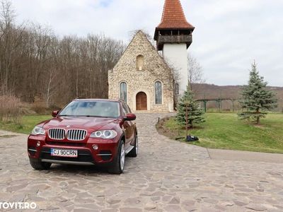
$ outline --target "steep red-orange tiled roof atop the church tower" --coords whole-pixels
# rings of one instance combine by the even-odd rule
[[[162,20],[158,29],[194,28],[187,22],[180,0],[165,0]]]

